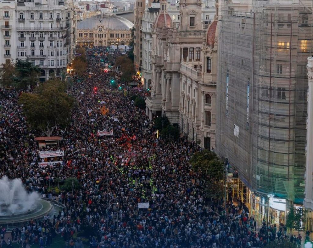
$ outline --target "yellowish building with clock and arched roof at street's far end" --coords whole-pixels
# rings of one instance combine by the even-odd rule
[[[98,15],[77,23],[79,46],[128,45],[131,42],[133,23],[116,15]]]

